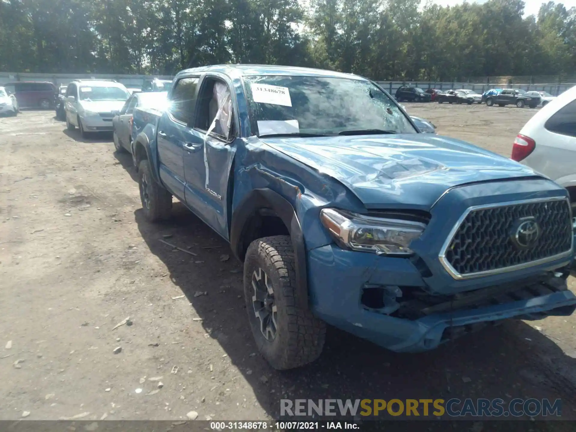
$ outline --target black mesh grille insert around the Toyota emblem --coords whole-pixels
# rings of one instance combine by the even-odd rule
[[[511,231],[518,219],[530,216],[538,222],[540,236],[532,247],[521,249],[511,240]],[[478,209],[461,223],[445,256],[461,275],[498,270],[566,252],[572,235],[566,200]]]

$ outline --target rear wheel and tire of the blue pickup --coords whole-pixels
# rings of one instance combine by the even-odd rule
[[[146,159],[141,161],[138,166],[138,188],[140,190],[142,210],[147,221],[158,222],[170,218],[172,214],[172,195],[154,181],[150,165]]]

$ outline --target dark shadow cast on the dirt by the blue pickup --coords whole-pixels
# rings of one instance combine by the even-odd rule
[[[130,155],[116,153],[116,158],[135,179]],[[572,408],[576,406],[572,403],[576,378],[566,379],[574,377],[576,360],[522,321],[507,321],[419,354],[392,353],[329,328],[318,361],[278,372],[257,354],[241,298],[242,263],[234,259],[227,242],[181,203],[174,203],[173,218],[166,223],[146,222],[141,209],[134,215],[150,251],[164,262],[173,283],[202,318],[206,332],[221,344],[274,418],[281,414],[280,399],[562,397],[563,419],[576,419]],[[158,241],[168,234],[172,237],[167,241],[196,256],[183,264],[181,253],[173,253]],[[229,259],[223,260],[222,255]],[[209,295],[194,297],[197,291]]]

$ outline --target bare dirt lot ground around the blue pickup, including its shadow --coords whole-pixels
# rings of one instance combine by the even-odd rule
[[[506,156],[535,113],[406,107]],[[22,112],[0,119],[0,166],[0,419],[272,419],[283,397],[548,397],[576,419],[576,316],[422,354],[330,328],[317,362],[276,372],[252,341],[241,263],[181,204],[169,223],[145,222],[131,159],[109,135],[84,140],[52,111]]]

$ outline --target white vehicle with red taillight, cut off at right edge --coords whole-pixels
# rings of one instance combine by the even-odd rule
[[[511,158],[567,188],[576,217],[576,86],[528,120],[514,140]]]

